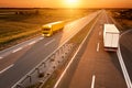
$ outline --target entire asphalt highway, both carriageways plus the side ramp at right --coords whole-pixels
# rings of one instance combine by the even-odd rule
[[[11,88],[66,40],[87,29],[87,24],[98,13],[67,23],[63,31],[52,37],[37,36],[1,51],[0,88]],[[85,44],[80,45],[54,88],[132,88],[132,31],[121,34],[117,53],[106,52],[102,40],[105,23],[113,22],[101,10]]]

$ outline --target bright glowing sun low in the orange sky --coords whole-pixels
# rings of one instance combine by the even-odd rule
[[[65,0],[65,6],[67,8],[78,8],[79,0]]]

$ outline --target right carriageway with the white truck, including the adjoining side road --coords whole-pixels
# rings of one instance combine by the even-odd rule
[[[106,52],[103,23],[112,23],[106,11],[101,12],[54,88],[132,88],[132,31],[122,33],[117,53]]]

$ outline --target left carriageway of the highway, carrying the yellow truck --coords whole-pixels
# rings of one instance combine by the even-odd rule
[[[98,12],[65,25],[52,37],[35,37],[0,52],[0,88],[11,88],[61,44],[86,26]]]

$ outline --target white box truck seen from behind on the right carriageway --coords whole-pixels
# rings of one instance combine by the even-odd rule
[[[105,51],[116,52],[119,46],[120,32],[114,24],[103,25],[103,45]]]

